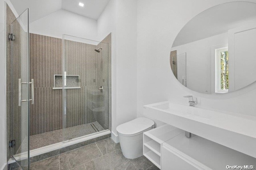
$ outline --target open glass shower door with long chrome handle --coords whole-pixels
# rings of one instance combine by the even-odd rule
[[[33,79],[29,72],[29,10],[10,25],[10,113],[12,157],[22,169],[29,169],[29,105],[33,104]],[[32,94],[30,95],[30,85]]]

